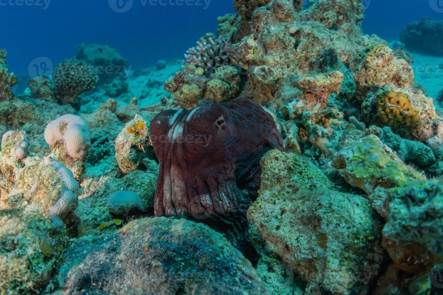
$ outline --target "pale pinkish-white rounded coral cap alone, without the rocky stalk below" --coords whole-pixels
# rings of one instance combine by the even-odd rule
[[[80,116],[62,115],[46,127],[45,140],[50,146],[63,141],[71,158],[85,159],[91,146],[89,124]]]

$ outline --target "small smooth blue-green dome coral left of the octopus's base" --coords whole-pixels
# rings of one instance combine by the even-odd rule
[[[143,211],[143,203],[140,197],[133,192],[116,192],[108,199],[109,213],[126,216],[134,210]]]

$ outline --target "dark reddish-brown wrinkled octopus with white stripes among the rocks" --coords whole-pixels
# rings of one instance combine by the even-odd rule
[[[245,97],[162,111],[150,138],[160,169],[155,216],[205,222],[242,248],[246,211],[260,188],[260,157],[283,150],[276,124]]]

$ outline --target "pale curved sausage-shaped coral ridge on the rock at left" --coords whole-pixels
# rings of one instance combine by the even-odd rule
[[[62,163],[52,161],[47,165],[55,169],[63,184],[62,193],[49,209],[49,216],[51,216],[52,225],[55,228],[64,228],[63,219],[78,206],[78,183],[74,179],[71,170],[67,169]]]

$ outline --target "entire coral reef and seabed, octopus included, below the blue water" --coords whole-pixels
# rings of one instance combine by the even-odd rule
[[[437,73],[362,2],[234,0],[184,61],[15,88],[0,50],[0,293],[438,294]]]

